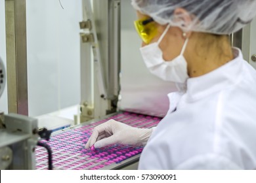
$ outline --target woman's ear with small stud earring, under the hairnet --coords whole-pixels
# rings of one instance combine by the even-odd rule
[[[181,22],[182,31],[186,32],[186,36],[189,37],[191,32],[188,31],[192,24],[192,17],[184,8],[176,8],[173,12],[175,22]]]

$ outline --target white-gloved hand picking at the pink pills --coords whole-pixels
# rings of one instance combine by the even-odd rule
[[[151,133],[152,129],[131,127],[116,120],[109,120],[93,129],[85,148],[90,148],[93,144],[95,148],[110,144],[144,146]]]

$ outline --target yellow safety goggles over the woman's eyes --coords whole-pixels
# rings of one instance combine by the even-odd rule
[[[134,24],[139,36],[146,44],[150,43],[158,33],[156,22],[154,22],[153,18],[136,20]]]

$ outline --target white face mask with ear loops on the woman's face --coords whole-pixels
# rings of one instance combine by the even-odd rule
[[[167,33],[169,27],[170,25],[167,25],[158,42],[154,42],[140,48],[140,53],[142,54],[144,63],[146,64],[146,67],[148,67],[150,73],[160,77],[163,80],[184,83],[188,78],[188,71],[186,59],[184,58],[183,54],[186,44],[188,43],[188,39],[186,39],[184,42],[181,54],[177,56],[177,58],[170,61],[165,61],[163,59],[163,52],[158,46]]]

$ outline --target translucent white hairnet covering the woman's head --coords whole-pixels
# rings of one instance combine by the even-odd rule
[[[256,0],[131,0],[142,14],[151,16],[159,24],[171,24],[183,31],[230,34],[249,24],[256,14]],[[192,17],[184,26],[181,18],[174,18],[176,8],[184,8]],[[194,17],[194,18],[193,18]]]

